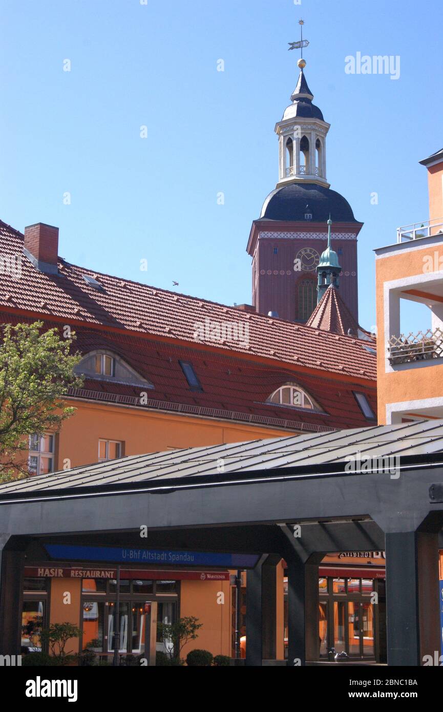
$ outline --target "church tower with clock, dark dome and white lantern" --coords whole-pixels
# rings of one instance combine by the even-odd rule
[[[298,43],[299,44],[299,43]],[[317,267],[329,244],[338,256],[340,295],[358,321],[357,236],[345,198],[326,179],[326,135],[330,125],[313,104],[305,74],[276,124],[278,182],[254,220],[247,251],[252,258],[252,303],[257,312],[306,323],[317,305]],[[328,243],[328,218],[333,220]],[[330,229],[330,226],[328,226]]]

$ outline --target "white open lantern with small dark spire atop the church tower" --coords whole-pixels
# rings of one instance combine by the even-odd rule
[[[300,76],[291,95],[292,104],[276,124],[278,136],[278,183],[317,183],[329,187],[326,180],[326,134],[330,124],[325,122],[320,109],[312,103],[313,94],[306,82],[303,69],[306,61],[299,59]]]

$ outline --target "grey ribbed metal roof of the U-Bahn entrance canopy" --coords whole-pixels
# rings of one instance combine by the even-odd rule
[[[287,436],[235,444],[196,447],[147,455],[135,455],[66,471],[33,476],[0,486],[0,499],[24,493],[150,483],[163,486],[177,478],[216,478],[226,475],[285,468],[312,474],[345,464],[360,453],[361,461],[387,456],[422,456],[443,451],[443,421],[428,420],[399,425],[372,426],[333,433]],[[398,462],[397,462],[398,464]],[[342,468],[343,471],[343,468]]]

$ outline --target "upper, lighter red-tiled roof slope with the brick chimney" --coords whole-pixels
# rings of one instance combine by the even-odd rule
[[[23,244],[23,235],[0,221],[1,255],[19,257]],[[281,367],[290,365],[292,373],[296,367],[300,372],[311,370],[360,382],[375,381],[375,356],[365,349],[365,342],[357,338],[95,273],[60,259],[58,268],[58,274],[46,274],[22,256],[21,278],[14,278],[5,270],[1,274],[0,308],[30,316],[41,315],[59,323],[63,320],[63,323],[80,323],[90,328],[105,327],[108,333],[130,332],[165,342],[185,342],[196,349],[202,348],[200,344],[204,352],[247,355],[274,365],[278,362]],[[85,283],[84,275],[97,279],[103,290]],[[219,342],[206,333],[198,341],[196,330],[205,323],[233,323],[249,330],[249,339],[243,343],[239,340]]]

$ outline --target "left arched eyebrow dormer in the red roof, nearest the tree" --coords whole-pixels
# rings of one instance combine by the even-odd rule
[[[154,384],[140,376],[123,358],[107,349],[90,351],[83,356],[75,372],[88,379],[154,388]]]

